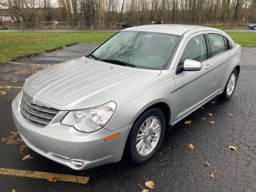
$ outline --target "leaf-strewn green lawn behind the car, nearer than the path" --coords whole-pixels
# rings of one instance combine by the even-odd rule
[[[0,61],[6,61],[14,56],[43,52],[67,43],[101,43],[114,33],[0,33]],[[241,46],[256,47],[256,33],[228,33]]]

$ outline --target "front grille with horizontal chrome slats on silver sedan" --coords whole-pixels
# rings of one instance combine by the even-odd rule
[[[45,107],[37,102],[31,103],[30,99],[31,98],[23,91],[20,101],[20,111],[30,123],[46,126],[59,112],[57,109]]]

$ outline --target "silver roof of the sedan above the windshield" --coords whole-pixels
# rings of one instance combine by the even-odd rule
[[[202,29],[203,30],[217,30],[211,27],[195,26],[195,25],[175,25],[175,24],[162,24],[162,25],[144,25],[138,27],[126,28],[122,31],[148,31],[156,33],[166,33],[174,35],[183,35],[187,31]]]

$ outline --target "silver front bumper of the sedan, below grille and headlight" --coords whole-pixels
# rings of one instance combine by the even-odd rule
[[[121,160],[125,142],[132,125],[108,131],[101,129],[92,133],[76,131],[71,126],[60,124],[67,111],[60,111],[45,127],[26,121],[19,109],[19,95],[12,102],[12,116],[21,138],[26,145],[55,162],[74,170],[85,170]],[[104,141],[119,133],[117,138]]]

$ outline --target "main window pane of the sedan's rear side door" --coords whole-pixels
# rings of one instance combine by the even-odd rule
[[[222,35],[208,34],[212,50],[212,56],[218,55],[226,51],[225,42]]]

